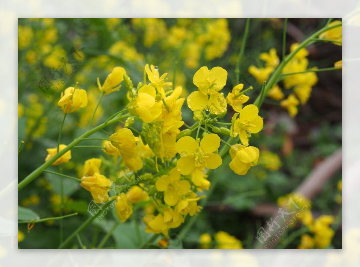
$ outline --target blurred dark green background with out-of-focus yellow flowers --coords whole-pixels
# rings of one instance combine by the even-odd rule
[[[289,19],[287,53],[291,44],[302,41],[326,22],[327,19],[316,18]],[[234,69],[244,24],[245,19],[231,18],[19,19],[18,141],[25,142],[18,161],[19,181],[44,162],[46,148],[57,144],[63,115],[56,103],[64,89],[79,82],[79,87],[87,90],[89,98],[86,110],[67,118],[62,137],[64,144],[86,130],[100,97],[96,78],[104,81],[115,66],[124,67],[137,83],[142,80],[146,63],[157,65],[161,73],[168,73],[170,81],[175,75],[176,86],[185,89],[184,96],[196,89],[192,77],[199,67],[221,66],[229,73],[227,86],[223,89],[226,95],[236,85]],[[280,56],[282,36],[283,19],[251,19],[240,64],[240,73],[244,75],[240,82],[255,87],[249,94],[249,103],[255,100],[261,86],[249,74],[248,67],[261,66],[259,54],[272,47]],[[332,67],[334,62],[342,59],[341,46],[318,42],[307,49],[309,67]],[[312,170],[341,151],[342,72],[321,72],[318,78],[310,100],[299,107],[295,118],[290,118],[279,102],[265,100],[261,112],[265,128],[252,141],[261,151],[274,154],[268,153],[267,158],[262,158],[246,176],[237,176],[226,167],[218,170],[220,181],[188,238],[184,239],[184,248],[199,248],[201,234],[213,235],[218,231],[237,237],[244,248],[253,248],[258,228],[272,216],[278,199],[297,189]],[[44,90],[44,81],[53,83],[52,89]],[[290,94],[288,90],[283,92]],[[104,98],[94,125],[126,104],[125,89]],[[182,111],[183,120],[190,123],[191,110],[184,105]],[[78,149],[71,162],[64,165],[64,172],[76,176],[86,159],[103,157],[102,154],[98,149]],[[338,186],[341,179],[341,169],[331,173],[311,199],[314,217],[329,214],[337,218],[336,234],[329,248],[342,248],[342,197]],[[66,213],[79,213],[79,216],[67,218],[64,226],[67,236],[87,218],[87,204],[91,199],[77,182],[64,182]],[[59,179],[51,174],[41,175],[19,192],[18,204],[32,209],[41,218],[58,216],[59,193]],[[112,220],[109,217],[107,222],[103,220],[102,224],[91,225],[81,234],[87,247],[95,245],[95,235],[100,239],[106,234]],[[131,231],[131,227],[120,226],[107,246],[136,248],[131,235],[121,235],[121,232]],[[19,225],[19,230],[24,237],[19,243],[20,248],[56,248],[59,244],[59,221],[36,224],[30,233],[25,224]],[[174,231],[174,236],[177,232]],[[294,239],[287,248],[296,248],[299,243],[300,238]],[[78,248],[76,240],[72,247]]]

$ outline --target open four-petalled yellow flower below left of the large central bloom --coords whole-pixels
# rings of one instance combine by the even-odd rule
[[[191,185],[186,180],[180,181],[180,172],[172,169],[169,175],[163,175],[156,181],[156,189],[164,192],[164,201],[167,205],[174,206],[181,196],[189,192]]]

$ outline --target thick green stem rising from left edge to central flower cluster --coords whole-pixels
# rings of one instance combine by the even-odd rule
[[[48,168],[51,164],[53,164],[58,158],[60,158],[62,155],[64,155],[67,151],[71,150],[74,146],[76,146],[78,143],[80,143],[82,141],[83,138],[86,138],[90,135],[92,135],[93,133],[102,130],[102,128],[111,125],[113,123],[116,123],[119,119],[124,119],[127,118],[127,114],[120,116],[120,117],[115,117],[113,119],[111,119],[110,121],[108,121],[107,124],[102,123],[99,126],[94,127],[93,129],[91,129],[90,131],[86,131],[85,133],[83,133],[81,136],[79,136],[77,139],[75,139],[74,141],[72,141],[70,144],[68,144],[66,146],[66,148],[64,148],[63,150],[59,151],[58,153],[56,153],[53,157],[51,157],[47,162],[45,162],[44,164],[42,164],[40,167],[38,167],[37,169],[35,169],[32,173],[30,173],[27,177],[24,178],[24,180],[22,180],[21,182],[19,182],[18,184],[18,190],[23,189],[26,185],[28,185],[32,180],[34,180],[36,177],[38,177],[46,168]]]

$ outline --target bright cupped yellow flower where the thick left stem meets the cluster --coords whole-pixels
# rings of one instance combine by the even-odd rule
[[[144,85],[139,89],[138,96],[127,105],[129,112],[138,115],[145,123],[153,122],[162,113],[162,106],[155,98],[155,88]]]

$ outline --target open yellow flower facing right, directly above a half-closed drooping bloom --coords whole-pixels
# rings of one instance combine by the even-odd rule
[[[260,132],[264,125],[258,113],[259,109],[256,105],[247,105],[241,110],[240,117],[233,123],[233,135],[239,135],[243,145],[248,146],[248,138],[251,137],[251,134]]]

